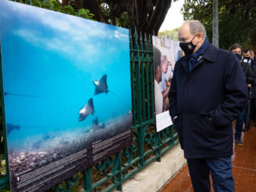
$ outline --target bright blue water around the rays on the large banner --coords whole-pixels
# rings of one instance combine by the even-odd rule
[[[131,110],[129,31],[16,2],[0,2],[8,147],[49,132],[90,129]],[[107,74],[108,94],[93,96]],[[113,94],[114,92],[115,94]],[[23,96],[17,96],[23,95]],[[116,96],[115,96],[116,95]],[[94,114],[79,122],[93,98]]]

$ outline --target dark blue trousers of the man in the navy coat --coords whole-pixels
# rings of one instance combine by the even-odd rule
[[[235,191],[231,157],[187,160],[195,192],[210,192],[210,175],[213,180],[214,192]]]

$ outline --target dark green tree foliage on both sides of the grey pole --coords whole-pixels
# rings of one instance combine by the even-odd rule
[[[245,0],[219,0],[219,46],[229,49],[234,43],[250,49],[256,34],[256,2]],[[200,20],[212,40],[213,1],[185,0],[181,9],[185,20]]]

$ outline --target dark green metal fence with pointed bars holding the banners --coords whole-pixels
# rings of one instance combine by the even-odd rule
[[[52,187],[49,191],[83,190],[89,192],[111,191],[115,188],[122,190],[122,183],[126,179],[129,179],[130,176],[133,176],[150,162],[161,161],[161,156],[178,142],[177,133],[173,126],[163,129],[161,132],[155,132],[152,40],[148,34],[144,34],[144,38],[142,38],[141,34],[137,34],[136,29],[130,31],[130,69],[133,145],[65,180],[56,187]],[[2,93],[1,88],[1,100],[3,98]],[[0,178],[0,189],[9,185],[5,130],[3,133],[6,175]]]

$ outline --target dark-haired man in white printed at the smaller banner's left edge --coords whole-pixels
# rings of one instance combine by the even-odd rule
[[[153,48],[154,59],[154,84],[155,84],[155,114],[163,112],[163,95],[159,88],[159,82],[162,82],[163,66],[161,63],[161,53],[155,46]]]

